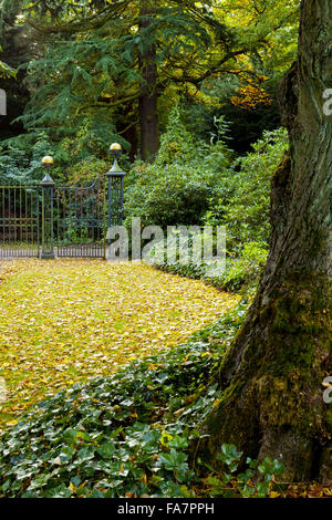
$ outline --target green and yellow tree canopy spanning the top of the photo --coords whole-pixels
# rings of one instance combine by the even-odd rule
[[[143,158],[155,155],[159,124],[180,98],[269,102],[264,83],[294,58],[298,3],[6,0],[3,34],[30,42],[22,122],[55,139],[89,133],[100,153],[118,135]]]

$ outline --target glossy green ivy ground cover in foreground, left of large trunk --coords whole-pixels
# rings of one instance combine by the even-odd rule
[[[219,395],[203,389],[243,318],[39,403],[0,438],[0,496],[193,496],[188,444]]]

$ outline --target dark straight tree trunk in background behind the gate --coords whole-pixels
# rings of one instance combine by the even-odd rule
[[[141,30],[149,27],[151,21],[144,17],[152,17],[155,2],[142,0],[139,14]],[[144,44],[139,55],[141,73],[143,76],[143,94],[139,98],[141,153],[144,160],[152,160],[159,149],[158,96],[156,85],[158,80],[156,65],[156,46]]]

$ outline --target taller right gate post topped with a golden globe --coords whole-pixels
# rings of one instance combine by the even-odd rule
[[[122,153],[122,146],[118,143],[113,143],[110,153],[114,157],[114,163],[113,167],[106,174],[108,178],[108,228],[111,228],[111,226],[122,226],[123,223],[123,193],[124,177],[126,175],[117,163],[117,157]]]

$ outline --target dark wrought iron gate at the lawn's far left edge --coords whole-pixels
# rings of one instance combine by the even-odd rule
[[[117,166],[117,165],[116,165]],[[111,225],[123,221],[124,173],[91,186],[0,186],[0,258],[104,258]]]

